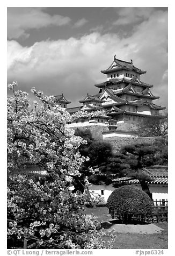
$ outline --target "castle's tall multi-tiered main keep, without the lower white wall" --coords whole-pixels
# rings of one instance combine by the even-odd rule
[[[152,84],[141,81],[140,76],[146,71],[138,69],[130,62],[116,59],[110,67],[101,70],[107,75],[103,83],[95,84],[99,88],[96,95],[87,94],[78,110],[105,110],[106,116],[112,118],[116,123],[137,123],[143,118],[158,117],[159,110],[165,107],[153,103],[154,96],[150,88]],[[76,112],[76,108],[68,109],[69,112]]]

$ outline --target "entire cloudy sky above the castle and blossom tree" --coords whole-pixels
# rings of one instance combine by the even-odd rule
[[[8,8],[8,83],[27,92],[64,94],[71,106],[94,84],[113,56],[147,73],[156,104],[167,107],[167,8]]]

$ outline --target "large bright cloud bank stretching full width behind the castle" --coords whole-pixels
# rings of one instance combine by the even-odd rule
[[[46,94],[63,92],[72,105],[86,93],[96,94],[94,83],[106,80],[100,70],[116,58],[130,61],[147,70],[142,81],[154,84],[153,93],[167,105],[167,12],[157,11],[137,26],[129,38],[118,34],[93,32],[81,38],[41,41],[31,47],[8,42],[8,81],[17,80],[20,88],[35,86]]]

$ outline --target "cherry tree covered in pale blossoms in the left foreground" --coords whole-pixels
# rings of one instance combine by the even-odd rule
[[[70,116],[54,101],[32,88],[37,101],[15,90],[8,98],[8,241],[10,248],[105,248],[97,217],[84,214],[86,194],[72,193],[71,181],[88,158],[78,147],[86,141],[67,128]],[[39,102],[42,104],[39,107]],[[25,173],[26,166],[39,166],[46,176]],[[92,170],[92,168],[91,168]],[[93,172],[93,170],[92,170]],[[85,187],[88,179],[85,178]],[[112,239],[108,245],[111,247]]]

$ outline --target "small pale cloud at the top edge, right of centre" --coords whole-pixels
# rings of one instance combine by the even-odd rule
[[[116,8],[119,18],[113,22],[113,25],[128,25],[141,22],[144,19],[148,19],[152,12],[154,12],[154,8],[152,7]]]

